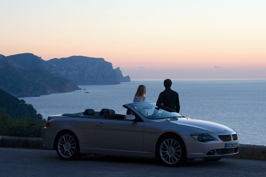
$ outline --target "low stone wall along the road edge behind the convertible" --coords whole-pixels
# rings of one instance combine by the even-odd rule
[[[0,147],[43,148],[41,138],[0,136]],[[239,153],[230,158],[266,161],[266,146],[240,144]]]

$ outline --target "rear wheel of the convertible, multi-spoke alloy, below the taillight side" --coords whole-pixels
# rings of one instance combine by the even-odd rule
[[[80,146],[78,138],[72,132],[62,132],[56,142],[58,156],[66,161],[80,158]]]

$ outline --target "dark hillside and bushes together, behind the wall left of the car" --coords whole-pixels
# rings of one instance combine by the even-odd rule
[[[0,135],[41,137],[46,120],[31,104],[0,89]]]

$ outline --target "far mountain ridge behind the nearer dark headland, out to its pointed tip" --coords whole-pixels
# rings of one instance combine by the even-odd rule
[[[7,56],[3,61],[26,70],[45,68],[53,75],[62,76],[78,85],[130,82],[129,76],[123,77],[122,72],[113,69],[112,63],[104,58],[70,56],[45,61],[32,53],[22,53]]]

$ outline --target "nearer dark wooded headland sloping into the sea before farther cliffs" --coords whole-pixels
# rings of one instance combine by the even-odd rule
[[[0,89],[13,96],[40,96],[56,92],[80,90],[72,81],[49,73],[44,68],[24,70],[4,62],[0,55]]]

